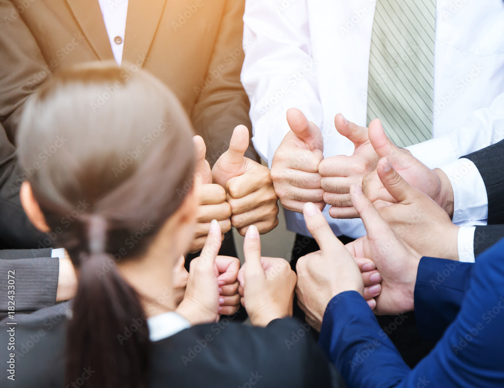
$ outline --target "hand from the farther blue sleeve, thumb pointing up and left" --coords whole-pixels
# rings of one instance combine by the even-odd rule
[[[346,248],[355,257],[371,259],[383,278],[382,292],[375,298],[375,314],[394,315],[412,311],[421,256],[395,234],[359,186],[352,186],[350,194],[367,235],[347,244]]]

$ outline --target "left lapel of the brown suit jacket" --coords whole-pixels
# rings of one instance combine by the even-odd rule
[[[98,58],[114,59],[98,0],[67,0],[67,3]]]

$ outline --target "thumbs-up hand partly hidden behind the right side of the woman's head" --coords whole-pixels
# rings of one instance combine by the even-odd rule
[[[198,191],[198,224],[196,225],[195,238],[189,248],[191,253],[201,250],[210,230],[210,221],[219,221],[222,230],[221,241],[224,240],[224,233],[231,229],[231,206],[226,202],[226,191],[219,185],[212,184],[212,172],[210,165],[205,160],[205,141],[201,136],[193,137],[196,150],[196,171],[195,178],[201,180],[201,187]]]

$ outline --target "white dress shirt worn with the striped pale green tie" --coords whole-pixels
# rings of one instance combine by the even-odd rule
[[[241,81],[251,104],[254,146],[270,167],[289,131],[291,107],[321,128],[326,158],[352,154],[354,146],[336,131],[334,116],[341,112],[366,125],[374,6],[373,0],[245,3]],[[433,139],[408,147],[431,168],[504,138],[502,20],[502,0],[436,2]],[[484,188],[482,181],[476,187]],[[481,219],[485,194],[457,208],[457,216]],[[328,209],[324,214],[336,235],[365,234],[359,219],[336,220]],[[288,229],[309,236],[302,214],[285,211],[285,216]]]

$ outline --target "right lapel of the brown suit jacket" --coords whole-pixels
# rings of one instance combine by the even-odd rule
[[[166,0],[129,0],[122,61],[143,63],[163,14]]]

